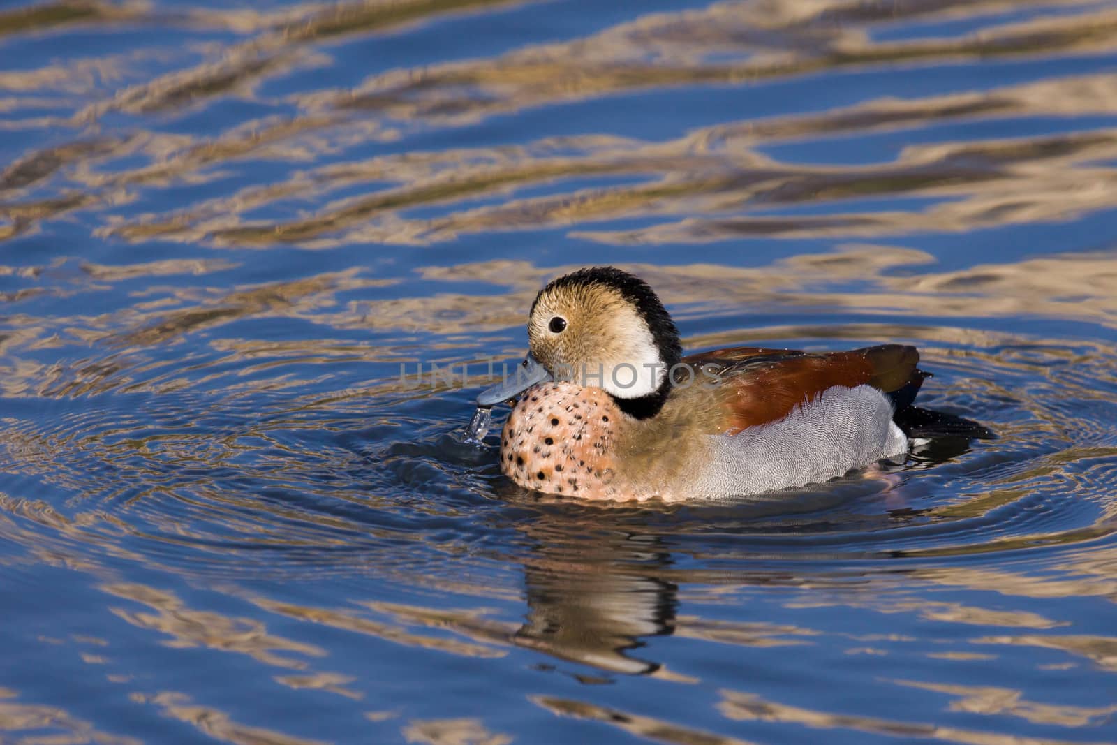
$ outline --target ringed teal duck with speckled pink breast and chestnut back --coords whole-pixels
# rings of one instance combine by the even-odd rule
[[[588,499],[757,494],[906,453],[892,416],[927,376],[900,344],[682,356],[655,292],[614,267],[544,287],[527,335],[517,374],[477,399],[519,397],[500,468],[522,487]]]

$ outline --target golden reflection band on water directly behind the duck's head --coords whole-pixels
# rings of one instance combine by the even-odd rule
[[[768,305],[829,306],[891,316],[968,317],[980,306],[982,315],[1041,315],[1117,327],[1117,297],[1110,292],[1117,286],[1117,255],[1111,251],[986,264],[941,274],[896,274],[896,269],[933,261],[932,256],[909,248],[848,245],[833,252],[804,254],[756,268],[715,264],[621,266],[647,279],[666,303],[679,306],[677,318]],[[485,281],[508,292],[483,298],[439,294],[371,300],[363,309],[376,328],[403,328],[410,323],[431,333],[454,334],[517,327],[526,322],[526,311],[538,288],[574,268],[541,268],[529,261],[509,260],[427,267],[421,270],[427,279]],[[859,283],[857,292],[831,289],[850,281]],[[703,340],[707,342],[716,343]]]

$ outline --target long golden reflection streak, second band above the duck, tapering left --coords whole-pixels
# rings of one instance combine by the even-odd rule
[[[1107,89],[1104,95],[1117,102],[1115,93],[1117,89]],[[1094,104],[1089,111],[1077,113],[1113,113],[1117,103],[1107,105],[1105,112],[1097,108]],[[1013,113],[1028,116],[1048,112]],[[716,139],[722,139],[716,147],[697,145]],[[157,237],[218,246],[297,243],[331,248],[351,242],[421,245],[476,232],[697,213],[717,217],[688,217],[682,222],[628,232],[575,229],[571,235],[618,243],[696,243],[750,236],[865,239],[1069,220],[1114,206],[1114,171],[1098,163],[1117,156],[1117,137],[1105,131],[1052,135],[1047,140],[910,146],[892,163],[863,166],[780,164],[755,152],[763,141],[754,136],[746,144],[726,137],[723,131],[641,146],[620,143],[600,147],[594,146],[594,140],[585,143],[588,147],[583,145],[583,154],[576,160],[548,156],[546,151],[557,143],[541,142],[532,149],[542,151],[540,154],[524,153],[518,162],[508,162],[512,152],[457,153],[459,162],[433,173],[412,154],[383,156],[364,169],[347,166],[342,179],[331,172],[336,169],[326,166],[322,173],[299,174],[289,184],[250,187],[232,198],[232,210],[222,199],[176,211],[169,221],[156,216],[140,222],[125,221],[111,228],[111,233],[130,240]],[[570,149],[580,143],[562,144]],[[439,160],[443,159],[446,154]],[[365,181],[386,179],[405,185],[347,198],[314,217],[295,221],[245,225],[238,217],[240,211],[257,210],[295,193],[311,193],[328,203],[330,191],[349,187],[362,170]],[[579,188],[548,197],[514,195],[516,189],[533,184],[557,188],[566,180],[604,175],[630,176],[641,183]],[[649,178],[655,180],[648,182]],[[410,208],[437,204],[449,210],[459,202],[498,194],[508,198],[496,207],[464,204],[445,217],[424,219],[404,214]],[[887,211],[824,217],[736,217],[751,209],[909,194],[926,197],[933,203],[920,211],[897,203]]]

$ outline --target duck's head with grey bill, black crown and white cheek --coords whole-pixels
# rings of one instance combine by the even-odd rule
[[[491,407],[547,380],[600,388],[624,412],[645,418],[662,407],[668,372],[682,355],[679,332],[642,279],[615,267],[558,277],[532,304],[531,352],[516,374],[479,397]]]

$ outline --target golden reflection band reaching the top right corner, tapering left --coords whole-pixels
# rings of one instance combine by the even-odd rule
[[[876,8],[840,1],[714,3],[703,10],[648,15],[583,39],[527,47],[494,60],[432,66],[418,76],[389,73],[342,94],[338,101],[386,111],[401,120],[472,121],[525,106],[646,87],[739,83],[843,66],[970,55],[1107,48],[1117,26],[1113,12],[1089,2],[1060,4],[1083,12],[1006,23],[971,37],[892,44],[872,41],[869,26],[882,18],[899,19],[901,13],[910,20],[963,7],[980,15],[1001,3]],[[726,52],[737,59],[716,59]]]

